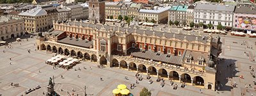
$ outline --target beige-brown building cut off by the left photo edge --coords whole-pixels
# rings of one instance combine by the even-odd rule
[[[24,19],[10,16],[0,17],[0,40],[15,38],[24,34]]]

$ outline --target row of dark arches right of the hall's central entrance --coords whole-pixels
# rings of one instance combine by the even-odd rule
[[[140,72],[145,72],[150,75],[156,75],[159,77],[168,77],[168,79],[172,78],[174,80],[179,80],[185,83],[193,83],[198,86],[204,86],[204,79],[202,77],[200,76],[191,77],[189,74],[186,74],[186,73],[179,74],[175,70],[172,70],[170,72],[168,72],[164,68],[159,68],[157,70],[157,68],[154,66],[146,67],[143,64],[136,64],[134,62],[127,63],[124,60],[121,60],[120,62],[118,62],[118,60],[116,59],[112,60],[112,67],[129,68],[129,70],[137,70]]]

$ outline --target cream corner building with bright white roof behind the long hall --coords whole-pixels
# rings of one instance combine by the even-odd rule
[[[139,11],[139,21],[143,22],[152,22],[154,19],[154,23],[156,24],[167,24],[168,22],[168,10],[170,9],[170,6],[167,6],[165,8],[159,8],[158,10],[144,10],[141,9]]]

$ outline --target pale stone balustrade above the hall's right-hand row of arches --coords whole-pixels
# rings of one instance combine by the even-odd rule
[[[130,56],[118,56],[118,55],[113,55],[113,58],[135,61],[135,62],[138,62],[138,63],[147,64],[147,65],[154,65],[156,67],[169,68],[169,69],[172,69],[172,70],[179,70],[181,72],[188,72],[188,73],[191,73],[191,74],[197,74],[197,75],[200,75],[200,76],[205,76],[204,72],[198,72],[196,70],[188,70],[188,69],[185,69],[184,67],[169,65],[169,64],[166,64],[166,63],[159,64],[156,61],[148,61],[148,60],[143,60],[143,59],[140,59],[140,58],[131,58]]]

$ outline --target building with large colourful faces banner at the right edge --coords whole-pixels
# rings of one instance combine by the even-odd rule
[[[252,6],[237,6],[234,11],[233,29],[237,31],[256,31],[256,9]]]

